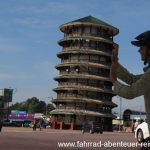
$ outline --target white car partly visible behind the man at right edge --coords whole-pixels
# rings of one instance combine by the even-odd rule
[[[139,143],[146,141],[150,137],[148,125],[146,122],[142,122],[135,129],[135,138]]]

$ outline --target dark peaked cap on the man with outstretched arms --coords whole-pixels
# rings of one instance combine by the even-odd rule
[[[131,41],[131,43],[135,46],[150,46],[150,31],[141,33],[135,39],[136,41]]]

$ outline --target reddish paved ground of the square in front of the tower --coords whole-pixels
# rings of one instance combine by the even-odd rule
[[[32,131],[31,128],[3,127],[0,133],[0,150],[140,149],[140,146],[136,144],[133,133],[122,132],[82,134],[81,131],[72,130],[43,129],[39,131],[37,129]]]

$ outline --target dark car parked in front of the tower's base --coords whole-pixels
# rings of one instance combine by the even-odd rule
[[[99,132],[103,133],[103,125],[101,122],[86,121],[82,127],[82,133],[89,132],[90,134]]]

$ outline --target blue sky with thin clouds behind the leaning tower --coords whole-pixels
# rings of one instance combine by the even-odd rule
[[[149,6],[149,0],[0,0],[0,88],[15,89],[13,102],[56,97],[57,41],[63,38],[59,26],[88,15],[120,30],[114,38],[120,63],[142,73],[138,49],[130,41],[149,30]],[[119,98],[113,101],[119,103]],[[122,111],[126,108],[144,110],[143,97],[123,100]]]

